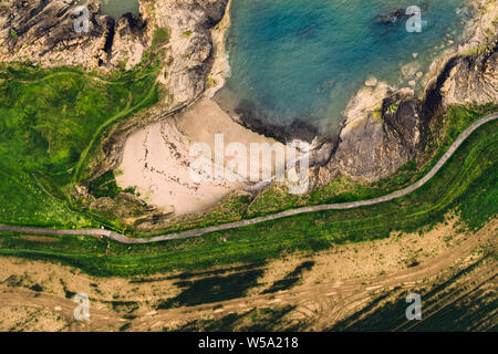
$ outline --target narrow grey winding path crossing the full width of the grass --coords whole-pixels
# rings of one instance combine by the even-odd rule
[[[197,236],[201,236],[201,235],[209,233],[209,232],[237,229],[237,228],[241,228],[241,227],[246,227],[246,226],[250,226],[250,225],[277,220],[277,219],[287,218],[287,217],[305,214],[305,212],[314,212],[314,211],[323,211],[323,210],[343,210],[343,209],[352,209],[352,208],[364,207],[364,206],[372,206],[372,205],[381,204],[384,201],[390,201],[393,199],[401,198],[403,196],[406,196],[406,195],[415,191],[416,189],[421,188],[422,186],[424,186],[428,180],[430,180],[439,171],[439,169],[446,164],[446,162],[453,156],[453,154],[455,154],[455,152],[458,149],[458,147],[461,145],[461,143],[464,143],[465,139],[473,132],[475,132],[481,125],[484,125],[488,122],[495,121],[497,118],[498,118],[498,113],[494,113],[484,118],[480,118],[479,121],[477,121],[473,125],[470,125],[464,133],[461,133],[456,138],[456,140],[452,144],[452,146],[443,155],[443,157],[437,162],[437,164],[430,169],[430,171],[427,175],[425,175],[422,179],[416,181],[415,184],[411,185],[409,187],[403,188],[398,191],[392,192],[392,194],[383,196],[383,197],[374,198],[374,199],[303,207],[303,208],[298,208],[298,209],[292,209],[292,210],[287,210],[287,211],[269,215],[266,217],[259,217],[259,218],[253,218],[253,219],[248,219],[248,220],[240,220],[240,221],[235,221],[235,222],[229,222],[229,223],[224,223],[224,225],[218,225],[218,226],[211,226],[211,227],[207,227],[207,228],[203,228],[203,229],[188,230],[188,231],[169,233],[169,235],[157,236],[157,237],[152,237],[152,238],[129,238],[124,235],[120,235],[120,233],[116,233],[113,231],[102,230],[102,229],[52,230],[52,229],[29,228],[29,227],[0,226],[0,231],[35,233],[35,235],[55,235],[55,236],[82,235],[82,236],[106,237],[113,241],[121,242],[121,243],[127,243],[127,244],[154,243],[154,242],[167,241],[167,240],[186,239],[186,238],[197,237]]]

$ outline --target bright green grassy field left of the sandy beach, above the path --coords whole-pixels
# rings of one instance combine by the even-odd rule
[[[76,69],[0,66],[0,223],[85,228],[73,185],[102,133],[154,104],[154,65],[100,77]]]

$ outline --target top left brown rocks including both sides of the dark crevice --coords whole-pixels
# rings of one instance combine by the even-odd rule
[[[101,14],[100,0],[90,0],[85,3],[87,31],[80,31],[77,24],[85,20],[84,12],[76,13],[77,4],[77,0],[0,2],[0,61],[89,70],[117,69],[124,59],[132,64],[141,61],[141,55],[132,53],[146,45],[139,18],[126,14],[114,21]],[[115,55],[118,58],[111,62]]]

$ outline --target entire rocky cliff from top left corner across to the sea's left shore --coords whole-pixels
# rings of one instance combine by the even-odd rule
[[[228,0],[139,0],[141,14],[114,20],[101,13],[100,0],[83,2],[87,31],[76,31],[79,0],[6,0],[0,2],[0,62],[32,62],[43,67],[82,66],[111,72],[143,61],[155,33],[162,43],[172,105],[187,103],[206,88],[212,63],[210,29],[225,14]]]

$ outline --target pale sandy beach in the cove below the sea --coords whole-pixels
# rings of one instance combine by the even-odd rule
[[[241,144],[247,152],[251,144],[281,147],[281,143],[253,133],[225,113],[216,102],[206,98],[172,118],[148,125],[133,134],[125,144],[123,159],[117,168],[120,187],[136,187],[144,199],[164,212],[175,216],[204,211],[230,192],[249,187],[250,158],[246,171],[230,168],[230,158],[222,164],[240,176],[242,181],[203,179],[196,181],[190,176],[190,165],[196,156],[190,156],[194,144],[207,144],[215,152],[215,135],[222,134],[224,148],[230,144]],[[276,144],[276,145],[273,145]],[[215,155],[215,154],[214,154]],[[220,163],[212,156],[212,166]],[[282,162],[262,158],[251,160],[260,170],[274,173],[283,167]]]

